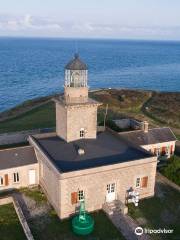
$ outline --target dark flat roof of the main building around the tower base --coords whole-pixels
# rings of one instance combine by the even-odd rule
[[[82,139],[70,143],[58,136],[34,140],[61,172],[152,157],[150,153],[132,147],[108,131],[98,133],[97,139]],[[79,148],[84,149],[84,155],[78,154]]]

